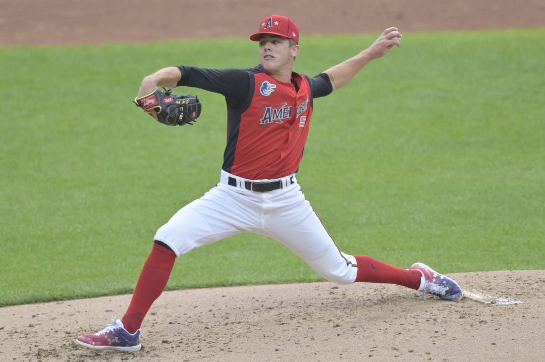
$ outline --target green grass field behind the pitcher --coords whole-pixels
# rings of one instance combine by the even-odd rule
[[[378,34],[301,38],[314,74]],[[341,250],[445,272],[545,268],[545,29],[404,34],[314,102],[298,180]],[[246,39],[0,51],[0,305],[130,293],[156,229],[219,179],[223,97],[166,127],[131,102],[168,65],[245,68]],[[178,92],[177,92],[178,93]],[[320,280],[239,235],[168,289]]]

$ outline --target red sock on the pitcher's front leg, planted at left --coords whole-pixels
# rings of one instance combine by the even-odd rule
[[[129,308],[121,319],[127,332],[132,334],[140,329],[149,308],[165,289],[175,260],[174,251],[153,244],[136,283]]]

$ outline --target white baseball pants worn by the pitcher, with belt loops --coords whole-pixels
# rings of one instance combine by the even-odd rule
[[[237,179],[237,186],[228,185],[229,176]],[[240,187],[244,179],[222,170],[220,183],[175,213],[154,240],[180,256],[223,238],[252,232],[281,242],[320,277],[338,284],[353,283],[358,272],[354,256],[337,248],[295,175],[281,180],[281,189],[253,192]]]

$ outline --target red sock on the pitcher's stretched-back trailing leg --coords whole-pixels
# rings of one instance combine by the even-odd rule
[[[391,266],[370,256],[354,255],[358,263],[355,281],[366,283],[385,283],[419,289],[422,274],[416,269],[402,269]]]

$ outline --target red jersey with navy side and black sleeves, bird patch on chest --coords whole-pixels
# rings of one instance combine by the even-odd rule
[[[279,179],[296,173],[308,136],[313,95],[331,93],[329,77],[323,73],[314,78],[292,73],[292,82],[282,83],[269,76],[261,65],[236,71],[179,68],[182,80],[178,85],[226,95],[223,170],[249,180]],[[245,74],[244,81],[241,72]],[[233,83],[235,76],[240,77],[240,82]],[[227,77],[231,77],[231,87]]]

